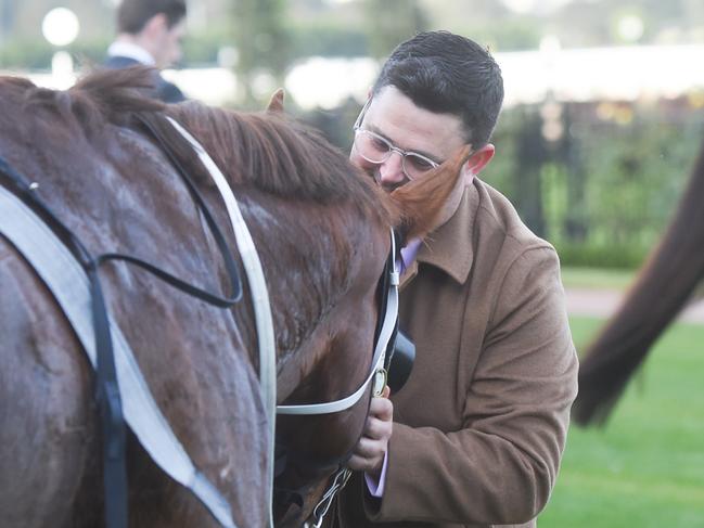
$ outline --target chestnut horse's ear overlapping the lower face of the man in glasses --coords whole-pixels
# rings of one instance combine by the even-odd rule
[[[463,146],[423,178],[410,181],[392,192],[392,201],[401,214],[401,224],[398,227],[405,240],[425,236],[436,227],[435,223],[462,173],[462,165],[471,152],[471,145]]]

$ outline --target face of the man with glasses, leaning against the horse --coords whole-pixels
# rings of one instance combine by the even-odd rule
[[[462,120],[459,117],[421,108],[393,86],[384,87],[374,95],[361,128],[382,136],[402,151],[421,154],[437,164],[464,145]],[[373,164],[361,157],[353,146],[349,158],[387,191],[408,181],[398,152],[392,152],[384,163]]]

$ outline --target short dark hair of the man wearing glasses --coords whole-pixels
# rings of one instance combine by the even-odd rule
[[[488,50],[449,31],[421,33],[400,43],[372,94],[387,86],[417,106],[460,117],[475,150],[489,141],[503,103],[501,69]]]

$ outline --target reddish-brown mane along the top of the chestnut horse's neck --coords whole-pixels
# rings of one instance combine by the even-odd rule
[[[23,90],[26,104],[41,105],[72,121],[88,138],[99,138],[105,124],[135,127],[135,116],[165,113],[203,144],[233,186],[254,186],[289,199],[350,204],[362,215],[391,223],[389,204],[369,178],[318,132],[281,113],[238,113],[196,101],[166,105],[145,95],[153,86],[145,67],[103,69],[81,78],[66,91],[35,87],[25,79],[2,82]],[[183,144],[164,129],[166,140]]]

